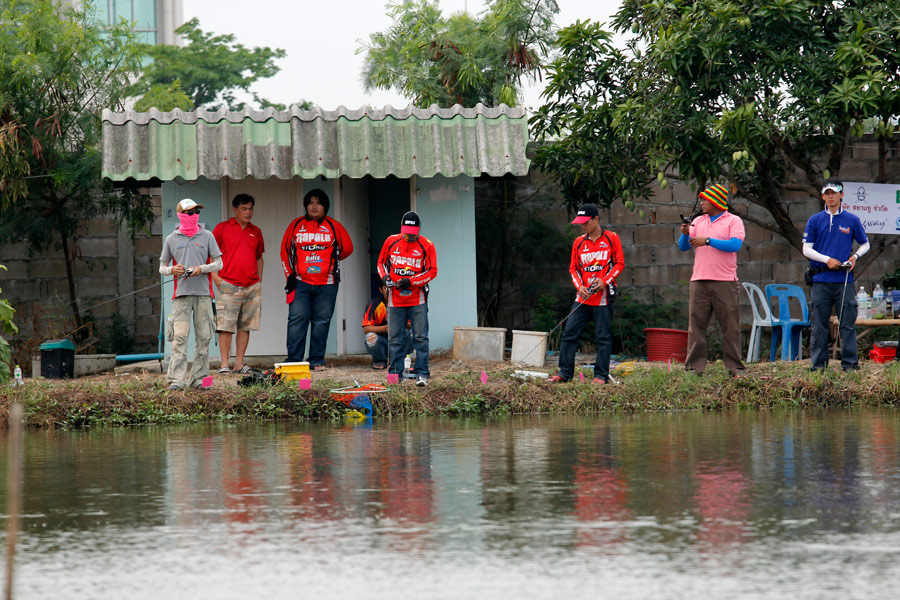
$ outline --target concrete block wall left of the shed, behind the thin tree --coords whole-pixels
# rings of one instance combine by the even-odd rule
[[[160,281],[162,197],[159,189],[150,193],[157,218],[149,232],[139,233],[132,242],[126,231],[119,231],[112,217],[84,223],[73,269],[82,314],[89,310],[103,327],[118,312],[126,323],[132,324],[139,351],[155,352],[159,334],[159,287],[131,294]],[[0,250],[0,264],[7,268],[0,271],[0,288],[3,297],[16,309],[18,339],[66,335],[74,321],[61,252],[51,250],[29,258],[25,244],[11,244]],[[124,294],[130,295],[107,302]],[[104,304],[96,306],[101,303]],[[13,351],[16,350],[16,340],[13,340]]]

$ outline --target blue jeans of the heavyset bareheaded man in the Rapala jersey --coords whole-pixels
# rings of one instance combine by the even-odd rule
[[[338,284],[310,285],[297,282],[294,301],[288,307],[288,335],[286,362],[302,362],[306,350],[306,331],[309,329],[309,366],[325,364],[328,328],[334,314]]]

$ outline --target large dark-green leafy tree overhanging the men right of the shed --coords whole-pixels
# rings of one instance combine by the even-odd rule
[[[633,206],[654,180],[730,180],[768,213],[740,216],[799,249],[787,192],[818,198],[865,132],[879,140],[879,181],[887,177],[900,0],[626,0],[614,28],[633,35],[624,51],[592,23],[560,32],[546,103],[532,119],[548,142],[535,164],[571,204]],[[628,148],[627,160],[612,160]],[[873,246],[868,261],[885,240]]]

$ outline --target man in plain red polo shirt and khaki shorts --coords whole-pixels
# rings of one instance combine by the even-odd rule
[[[222,356],[219,373],[231,371],[228,358],[231,354],[232,336],[235,337],[234,370],[239,373],[250,371],[250,367],[244,364],[244,352],[250,343],[250,332],[259,330],[262,255],[266,247],[262,231],[250,222],[255,204],[253,196],[238,194],[231,201],[234,217],[219,223],[213,230],[225,263],[221,271],[213,273],[219,290],[216,314],[219,352]]]

